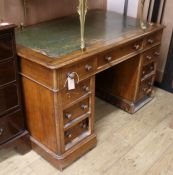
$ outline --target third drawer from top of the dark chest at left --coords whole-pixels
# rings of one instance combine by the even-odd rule
[[[15,83],[0,88],[0,115],[18,105],[17,85]]]

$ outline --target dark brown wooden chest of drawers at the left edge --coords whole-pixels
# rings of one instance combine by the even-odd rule
[[[1,23],[2,24],[2,23]],[[21,154],[30,150],[17,77],[14,24],[0,24],[0,149],[15,147]]]

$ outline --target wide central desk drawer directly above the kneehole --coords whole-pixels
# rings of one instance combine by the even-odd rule
[[[127,45],[123,45],[121,47],[115,48],[103,54],[100,54],[98,57],[98,68],[102,67],[106,64],[113,62],[123,56],[126,56],[131,53],[135,53],[136,51],[142,48],[143,40],[133,41]]]

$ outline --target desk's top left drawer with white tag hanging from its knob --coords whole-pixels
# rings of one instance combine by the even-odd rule
[[[74,78],[75,82],[77,82],[78,79],[81,80],[89,77],[92,73],[96,71],[96,61],[96,58],[92,57],[87,59],[86,61],[75,63],[74,65],[69,65],[62,68],[60,85],[61,88],[64,88],[64,85],[66,85],[67,87],[67,83],[65,84],[65,82],[68,76]]]

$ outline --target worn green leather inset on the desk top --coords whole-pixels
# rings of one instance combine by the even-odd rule
[[[136,29],[140,26],[134,18],[124,18],[123,15],[103,10],[89,11],[85,25],[86,46],[110,41]],[[80,50],[79,17],[76,14],[25,27],[22,31],[16,31],[16,41],[19,45],[58,59]]]

